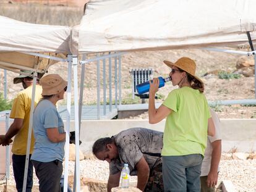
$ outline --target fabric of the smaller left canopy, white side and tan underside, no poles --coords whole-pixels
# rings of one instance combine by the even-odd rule
[[[22,52],[38,52],[47,56],[66,58],[69,53],[70,28],[38,25],[0,16],[0,68],[19,70],[22,67],[47,70],[58,61]]]

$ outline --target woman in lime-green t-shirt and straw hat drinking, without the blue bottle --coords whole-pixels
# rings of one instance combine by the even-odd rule
[[[164,191],[200,191],[200,171],[207,144],[207,134],[214,135],[204,85],[195,76],[196,64],[182,57],[175,63],[164,61],[171,68],[169,76],[179,89],[168,94],[163,104],[155,108],[159,80],[150,82],[148,118],[158,123],[166,118],[163,136]],[[208,128],[208,125],[210,128]]]

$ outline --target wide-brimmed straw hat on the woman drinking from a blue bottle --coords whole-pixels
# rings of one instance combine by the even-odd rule
[[[190,59],[189,57],[181,57],[175,63],[170,62],[170,61],[163,61],[163,62],[168,67],[173,68],[173,66],[175,66],[175,67],[178,67],[179,69],[184,70],[185,72],[187,72],[190,75],[192,75],[193,77],[195,77],[198,81],[203,83],[203,81],[200,80],[200,78],[198,78],[195,75],[195,69],[196,69],[197,66],[196,66],[195,62],[192,59]]]

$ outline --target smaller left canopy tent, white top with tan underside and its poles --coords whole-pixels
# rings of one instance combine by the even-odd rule
[[[20,73],[20,69],[32,70],[33,93],[35,99],[35,85],[38,72],[46,72],[50,65],[62,61],[69,62],[68,86],[67,86],[67,123],[66,123],[66,162],[69,159],[69,127],[71,105],[71,75],[72,64],[77,65],[76,57],[72,58],[69,51],[70,28],[65,26],[37,25],[20,22],[0,16],[0,68]],[[69,54],[66,58],[66,54]],[[76,59],[76,60],[75,60]],[[74,74],[75,76],[77,74]],[[75,85],[74,85],[75,86]],[[76,85],[77,86],[77,85]],[[76,95],[75,95],[76,96]],[[77,98],[75,98],[75,101]],[[23,191],[27,185],[27,168],[32,134],[34,102],[30,110],[30,125],[28,131],[27,156],[25,164]],[[78,110],[77,110],[78,114]],[[79,131],[76,131],[76,143],[79,143]],[[79,145],[76,146],[79,151]],[[79,153],[78,153],[79,154]],[[76,157],[79,163],[79,156]],[[67,175],[68,163],[65,173]],[[79,173],[79,172],[77,172]],[[79,178],[79,177],[77,177]],[[66,177],[67,183],[67,177]],[[78,182],[79,183],[79,182]],[[66,186],[67,188],[67,186]]]

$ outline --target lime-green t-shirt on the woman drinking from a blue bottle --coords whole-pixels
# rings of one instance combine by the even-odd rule
[[[184,86],[171,91],[163,105],[173,112],[166,118],[162,156],[203,155],[211,117],[204,94]]]

